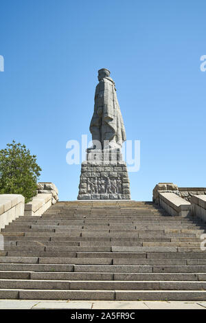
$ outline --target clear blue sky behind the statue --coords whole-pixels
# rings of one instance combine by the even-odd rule
[[[130,172],[135,200],[159,181],[206,186],[206,2],[1,1],[0,148],[25,143],[61,200],[78,195],[80,166],[66,142],[89,135],[97,71],[111,70],[128,140],[141,140]]]

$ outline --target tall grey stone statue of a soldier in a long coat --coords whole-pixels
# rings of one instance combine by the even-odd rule
[[[103,148],[122,148],[126,140],[126,132],[122,113],[117,101],[115,82],[110,77],[108,69],[98,71],[100,81],[95,89],[95,105],[89,130],[91,131],[93,147],[98,140]],[[107,146],[104,146],[107,141]]]

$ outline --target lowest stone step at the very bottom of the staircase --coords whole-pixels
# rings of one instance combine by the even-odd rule
[[[1,299],[21,300],[205,300],[206,291],[107,291],[1,289]]]

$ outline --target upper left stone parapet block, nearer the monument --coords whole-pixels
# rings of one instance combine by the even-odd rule
[[[52,193],[37,194],[25,204],[24,215],[41,216],[52,205]]]

